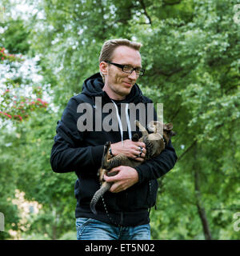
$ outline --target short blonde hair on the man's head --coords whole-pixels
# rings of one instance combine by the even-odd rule
[[[98,58],[99,64],[101,62],[110,62],[113,58],[113,53],[114,50],[118,47],[118,46],[128,46],[134,50],[140,50],[140,48],[142,47],[142,43],[140,42],[132,42],[128,39],[110,39],[107,40],[106,42],[104,42],[103,46],[102,46],[102,50],[100,53],[100,56]],[[100,74],[102,75],[102,79],[104,82],[104,75],[101,73],[100,70]]]

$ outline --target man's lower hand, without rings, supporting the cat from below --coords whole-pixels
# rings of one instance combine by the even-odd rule
[[[117,171],[118,174],[111,177],[104,175],[106,182],[114,182],[110,188],[110,192],[121,192],[138,182],[138,172],[132,167],[118,166],[110,170],[110,172],[113,171]]]

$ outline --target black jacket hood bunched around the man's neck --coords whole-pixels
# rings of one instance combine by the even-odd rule
[[[90,78],[87,78],[82,85],[82,94],[86,94],[89,97],[102,97],[102,101],[111,102],[111,99],[106,94],[105,91],[102,90],[104,83],[102,81],[102,76],[100,73],[92,75]],[[126,95],[126,98],[121,101],[122,103],[133,102],[137,104],[138,102],[142,102],[142,91],[135,83],[132,89],[130,90],[130,94]]]

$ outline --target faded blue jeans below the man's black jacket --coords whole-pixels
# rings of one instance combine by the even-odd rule
[[[78,240],[150,240],[150,224],[113,226],[93,218],[77,218]]]

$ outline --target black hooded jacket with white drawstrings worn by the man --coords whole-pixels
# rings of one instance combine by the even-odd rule
[[[158,157],[142,163],[135,169],[138,171],[139,181],[127,190],[119,193],[106,192],[103,200],[96,205],[97,215],[90,211],[90,201],[96,190],[99,189],[98,169],[101,166],[104,144],[108,141],[115,143],[129,138],[127,131],[121,134],[118,130],[104,131],[95,129],[98,124],[99,110],[111,102],[111,99],[102,91],[101,75],[94,74],[86,79],[82,86],[82,94],[78,94],[68,102],[58,121],[57,134],[54,137],[54,146],[51,151],[50,163],[54,172],[66,173],[74,171],[78,179],[75,183],[74,194],[77,198],[75,217],[94,218],[113,225],[138,226],[150,222],[149,209],[156,203],[158,191],[157,178],[166,174],[174,167],[177,155],[171,142]],[[102,106],[97,106],[96,97],[101,99]],[[79,131],[79,120],[83,113],[78,109],[80,103],[89,103],[92,106],[89,122],[93,129]],[[142,95],[138,85],[135,84],[130,94],[123,101],[115,101],[121,112],[121,103],[151,103],[149,98]],[[80,105],[79,105],[80,104]],[[86,113],[86,112],[85,112]],[[101,112],[102,120],[106,113]],[[108,113],[109,114],[109,113]],[[136,119],[138,119],[138,114]],[[154,119],[157,115],[154,112]],[[100,120],[100,121],[102,121]],[[144,125],[144,124],[142,124]],[[146,124],[145,124],[146,125]],[[132,131],[132,134],[136,131]],[[137,130],[141,137],[141,133]]]

